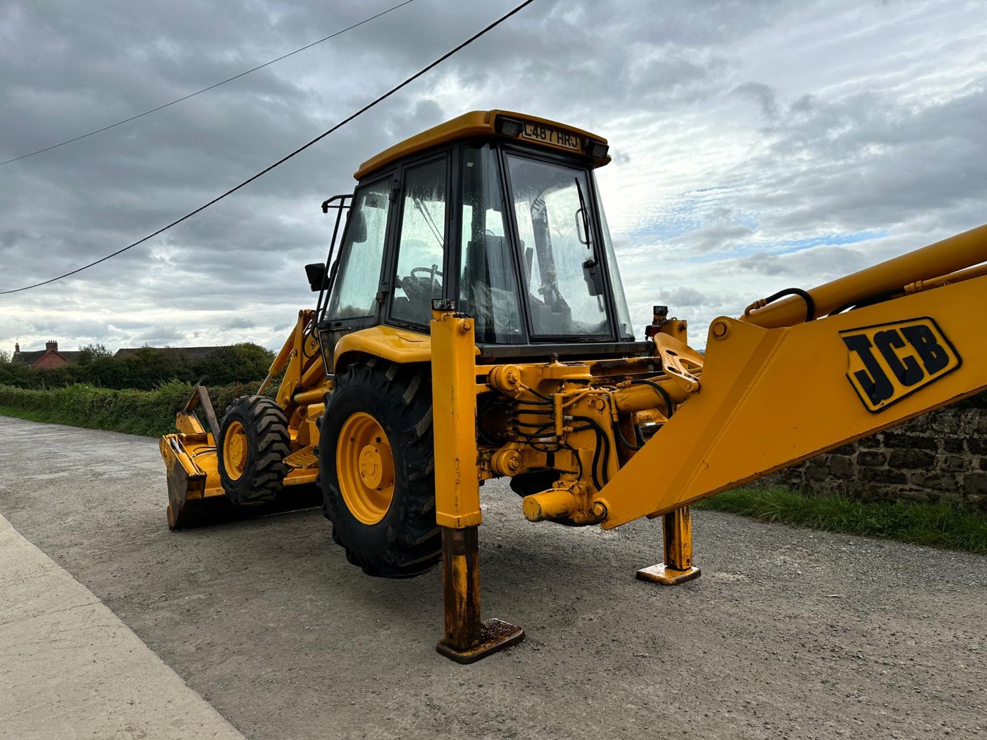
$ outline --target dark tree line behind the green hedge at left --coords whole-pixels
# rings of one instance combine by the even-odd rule
[[[26,389],[62,388],[85,384],[115,390],[151,391],[170,381],[192,385],[225,386],[260,382],[274,353],[253,342],[217,347],[193,356],[181,349],[144,346],[116,355],[103,344],[79,347],[75,362],[52,369],[38,369],[14,362],[0,350],[0,385]]]

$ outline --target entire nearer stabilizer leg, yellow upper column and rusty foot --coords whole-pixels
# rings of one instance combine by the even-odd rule
[[[455,302],[432,301],[432,429],[435,521],[442,528],[445,636],[435,649],[457,663],[474,663],[524,638],[502,620],[480,620],[476,344],[473,319]]]

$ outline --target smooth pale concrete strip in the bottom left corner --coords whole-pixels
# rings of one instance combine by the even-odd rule
[[[244,740],[0,516],[0,737]]]

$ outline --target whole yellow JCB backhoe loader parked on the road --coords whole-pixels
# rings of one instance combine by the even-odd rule
[[[438,649],[470,662],[523,634],[480,621],[484,481],[509,477],[533,522],[662,517],[664,561],[639,576],[674,584],[699,574],[691,503],[987,387],[987,227],[721,317],[705,356],[661,306],[637,340],[593,176],[607,150],[477,111],[365,162],[323,203],[316,309],[258,395],[221,423],[206,404],[206,430],[200,389],[162,439],[169,524],[315,483],[364,572],[442,562]]]

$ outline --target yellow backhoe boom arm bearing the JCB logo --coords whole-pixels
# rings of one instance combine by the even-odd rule
[[[597,495],[603,528],[674,511],[987,387],[987,273],[963,269],[985,260],[987,226],[809,291],[819,312],[875,295],[879,303],[805,323],[805,302],[792,297],[746,320],[714,321],[700,390]]]

